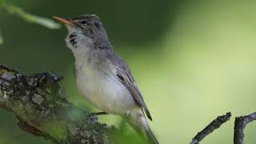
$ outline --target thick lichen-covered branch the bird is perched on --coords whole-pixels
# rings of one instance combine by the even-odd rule
[[[52,73],[25,76],[0,66],[0,108],[18,118],[18,126],[54,143],[113,143],[115,128],[67,102]]]

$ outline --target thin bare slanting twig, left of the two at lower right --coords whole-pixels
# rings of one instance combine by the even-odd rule
[[[190,144],[198,144],[200,141],[202,141],[203,138],[205,138],[208,134],[212,133],[214,130],[218,129],[220,126],[222,126],[223,123],[230,120],[231,113],[226,113],[225,115],[218,116],[218,118],[215,118],[213,122],[210,122],[208,126],[206,126],[205,129],[200,131],[193,139]]]

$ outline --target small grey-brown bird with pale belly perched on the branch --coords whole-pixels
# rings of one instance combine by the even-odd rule
[[[98,114],[122,116],[150,143],[158,144],[146,119],[152,121],[150,110],[129,66],[110,44],[101,19],[96,14],[53,18],[68,30],[66,45],[74,54],[76,84],[86,101],[103,111]]]

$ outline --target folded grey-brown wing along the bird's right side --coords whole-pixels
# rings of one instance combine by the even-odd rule
[[[136,83],[134,82],[134,78],[130,72],[129,67],[127,66],[126,62],[122,60],[122,58],[119,58],[118,56],[116,58],[118,59],[115,59],[115,61],[112,63],[117,69],[117,78],[120,82],[122,82],[124,86],[126,86],[127,90],[130,91],[130,94],[134,97],[136,102],[138,102],[138,104],[142,106],[142,108],[146,112],[147,117],[150,118],[150,120],[152,121],[150,110],[148,110],[146,103],[142,98],[142,94],[140,93],[138,87],[136,86]]]

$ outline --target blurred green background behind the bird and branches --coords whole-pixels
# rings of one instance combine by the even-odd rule
[[[31,14],[71,18],[98,14],[114,49],[129,63],[160,143],[189,143],[218,115],[256,111],[256,2],[188,0],[7,0]],[[90,106],[74,82],[74,58],[66,29],[24,22],[0,8],[0,63],[24,74],[54,71],[64,76],[63,93]],[[92,108],[92,106],[90,106]],[[92,108],[93,111],[96,111]],[[117,125],[121,118],[101,116]],[[50,143],[18,129],[18,120],[0,111],[0,143]],[[202,143],[233,143],[234,117]],[[245,143],[256,142],[256,122]]]

